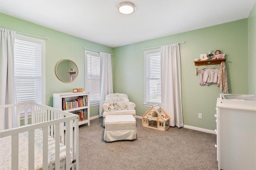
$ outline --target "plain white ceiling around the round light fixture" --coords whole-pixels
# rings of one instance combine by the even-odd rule
[[[127,1],[127,0],[123,0]],[[119,47],[248,18],[256,0],[0,0],[0,12],[89,41]],[[47,35],[44,35],[47,37]]]

